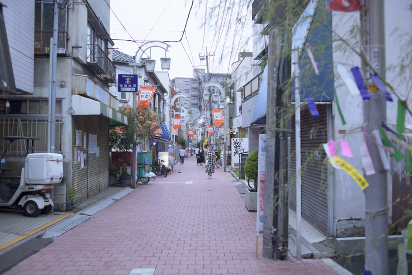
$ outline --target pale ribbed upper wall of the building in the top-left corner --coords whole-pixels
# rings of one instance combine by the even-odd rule
[[[16,89],[33,93],[34,1],[1,2]]]

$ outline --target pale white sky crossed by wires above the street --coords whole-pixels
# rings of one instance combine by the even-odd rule
[[[206,55],[206,47],[210,54],[214,53],[214,57],[209,57],[209,71],[231,73],[230,65],[237,60],[238,53],[252,51],[252,15],[251,7],[247,8],[248,3],[251,5],[251,0],[195,0],[182,42],[167,42],[171,45],[167,53],[167,56],[172,58],[170,79],[192,77],[192,65],[206,69],[206,61],[199,59],[199,54]],[[180,40],[191,4],[192,0],[110,0],[111,8],[121,23],[133,39],[138,41]],[[115,40],[131,38],[112,11],[110,37],[115,43],[114,48],[134,56],[138,49],[134,42]],[[140,44],[142,42],[139,42]],[[149,54],[149,50],[145,53]],[[156,59],[155,70],[161,70],[160,57],[164,56],[164,53],[161,48],[152,48],[152,58]]]

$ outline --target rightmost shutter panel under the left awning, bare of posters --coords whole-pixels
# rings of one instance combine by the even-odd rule
[[[100,190],[108,187],[109,182],[109,144],[108,144],[108,118],[100,116],[100,136],[98,139],[100,146]]]

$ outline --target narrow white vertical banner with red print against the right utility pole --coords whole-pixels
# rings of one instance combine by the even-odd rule
[[[265,204],[265,162],[266,162],[266,135],[259,135],[258,159],[258,197],[256,212],[256,236],[263,233],[263,207]]]

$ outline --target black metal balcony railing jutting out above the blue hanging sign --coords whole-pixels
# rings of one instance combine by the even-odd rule
[[[116,83],[116,66],[98,45],[87,45],[86,67],[101,81]]]

